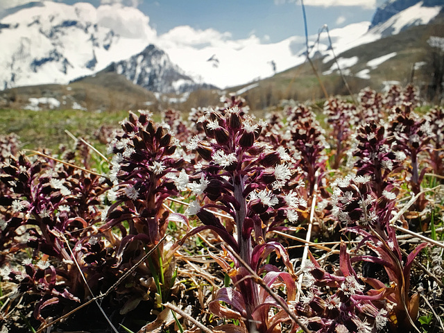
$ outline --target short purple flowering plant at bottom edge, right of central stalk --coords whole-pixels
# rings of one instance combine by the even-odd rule
[[[314,332],[381,332],[387,323],[385,291],[370,289],[352,268],[345,242],[340,265],[327,272],[309,253],[304,263],[304,291],[293,309]],[[328,292],[325,292],[328,291]]]

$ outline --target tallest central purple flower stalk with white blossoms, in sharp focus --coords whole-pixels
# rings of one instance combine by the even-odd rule
[[[291,157],[285,151],[274,151],[268,144],[258,142],[265,123],[241,116],[237,107],[207,112],[199,121],[205,126],[207,138],[194,138],[189,148],[205,161],[194,176],[201,186],[203,205],[194,200],[187,214],[198,216],[204,225],[189,235],[205,229],[219,234],[230,250],[213,257],[233,282],[233,287],[216,293],[210,310],[223,318],[241,320],[247,332],[278,331],[279,324],[289,321],[289,317],[230,251],[263,276],[268,287],[285,286],[287,301],[295,299],[293,267],[287,251],[269,237],[271,231],[285,229],[283,223],[296,223],[298,210],[304,208],[296,192],[282,191],[292,176]],[[214,209],[228,214],[236,228],[232,228],[230,220],[224,225]],[[280,257],[288,271],[265,263],[271,253]],[[230,309],[221,302],[230,305]]]

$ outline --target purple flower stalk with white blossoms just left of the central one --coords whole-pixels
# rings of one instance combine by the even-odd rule
[[[177,196],[185,189],[186,182],[181,184],[181,180],[187,180],[187,175],[179,172],[185,164],[180,143],[167,127],[153,122],[149,112],[139,112],[139,116],[130,112],[128,119],[121,122],[122,132],[110,144],[114,153],[110,180],[114,187],[108,191],[108,198],[112,205],[105,224],[99,228],[116,249],[122,272],[157,244],[171,219],[187,221],[185,216],[170,214],[164,207],[169,196]],[[120,230],[120,238],[112,234],[114,227]],[[157,255],[137,268],[137,283],[125,293],[126,306],[121,312],[130,311],[147,298],[147,286],[153,278],[157,298],[171,287],[173,255],[164,253],[163,248],[159,246]],[[130,293],[133,295],[128,298]]]

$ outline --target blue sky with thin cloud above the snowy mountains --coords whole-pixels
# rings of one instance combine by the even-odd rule
[[[250,35],[262,43],[279,42],[303,35],[300,0],[58,0],[65,3],[123,3],[139,8],[150,17],[150,25],[161,35],[176,26],[229,33],[234,40]],[[0,0],[0,12],[31,0]],[[327,24],[330,29],[370,21],[384,0],[305,0],[308,32],[316,34]]]

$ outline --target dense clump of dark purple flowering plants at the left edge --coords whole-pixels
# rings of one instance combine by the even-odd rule
[[[8,216],[0,233],[3,255],[30,255],[22,265],[3,266],[3,279],[15,282],[22,296],[36,296],[34,316],[42,322],[46,307],[67,309],[89,294],[78,271],[86,273],[87,264],[74,248],[101,221],[100,197],[109,187],[104,178],[51,158],[10,156],[0,176],[9,189],[1,200]]]

